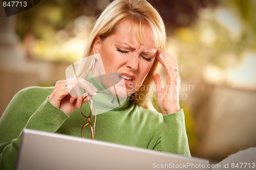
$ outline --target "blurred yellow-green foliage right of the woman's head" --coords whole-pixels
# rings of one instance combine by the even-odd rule
[[[239,64],[246,51],[255,51],[255,8],[255,1],[220,1],[216,9],[199,11],[199,19],[190,27],[176,29],[166,51],[178,57],[182,78],[203,80],[208,66],[224,75],[226,68]],[[221,83],[225,81],[223,78]]]

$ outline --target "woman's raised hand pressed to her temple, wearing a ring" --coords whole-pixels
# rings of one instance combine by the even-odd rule
[[[156,74],[154,79],[157,86],[158,107],[162,110],[164,115],[176,113],[180,111],[180,76],[177,60],[163,50],[158,51],[156,58],[164,66],[166,75],[165,86],[163,86],[160,74]]]

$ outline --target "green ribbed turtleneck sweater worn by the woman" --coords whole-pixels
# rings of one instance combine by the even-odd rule
[[[53,87],[23,89],[6,108],[0,119],[0,169],[15,168],[24,128],[81,136],[86,118],[79,109],[68,116],[52,106],[48,100],[52,90]],[[97,94],[93,98],[99,112],[108,107],[111,101],[108,96]],[[88,103],[84,110],[88,113]],[[84,128],[83,136],[91,138],[89,127]],[[97,115],[95,140],[190,156],[183,110],[163,116],[130,100]]]

